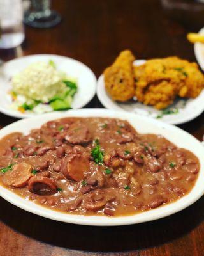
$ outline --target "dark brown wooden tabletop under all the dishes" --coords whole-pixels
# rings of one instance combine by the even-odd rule
[[[1,51],[0,57],[61,54],[84,62],[97,77],[126,48],[140,59],[177,55],[195,60],[186,33],[200,28],[202,18],[196,12],[189,11],[191,19],[184,15],[182,20],[165,12],[157,0],[54,0],[53,7],[62,15],[61,24],[26,27],[22,52]],[[101,107],[96,97],[87,105],[93,107]],[[201,140],[203,119],[201,115],[180,127]],[[14,121],[0,114],[0,126]],[[23,211],[2,198],[0,205],[3,256],[204,255],[204,197],[173,216],[124,227],[70,225]]]

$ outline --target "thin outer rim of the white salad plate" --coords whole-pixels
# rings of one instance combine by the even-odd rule
[[[33,57],[34,58],[35,57],[39,57],[39,58],[46,57],[46,58],[48,58],[48,60],[50,60],[52,58],[64,58],[65,60],[73,61],[74,63],[77,63],[78,65],[84,67],[91,74],[92,79],[93,79],[93,83],[94,83],[94,89],[92,90],[92,93],[89,94],[89,97],[87,97],[87,100],[85,100],[85,102],[83,104],[79,104],[79,106],[75,109],[83,108],[89,102],[91,102],[91,100],[96,95],[97,78],[96,78],[96,75],[94,74],[94,72],[91,70],[91,68],[89,68],[87,65],[85,65],[81,61],[75,60],[73,58],[69,58],[67,56],[62,56],[62,55],[57,55],[57,54],[31,54],[31,55],[25,55],[25,56],[21,56],[21,57],[6,61],[6,62],[3,63],[3,65],[9,65],[10,63],[15,62],[15,61],[31,59]],[[18,113],[17,111],[13,111],[12,109],[2,108],[1,105],[0,105],[0,112],[5,114],[5,115],[8,115],[8,116],[13,116],[15,118],[29,118],[29,117],[33,117],[33,116],[38,115],[38,114],[33,115],[33,114],[29,114],[29,113],[20,113],[20,112]],[[52,113],[53,112],[54,113],[55,112],[57,112],[57,113],[59,113],[59,112],[66,113],[67,111],[52,111]]]

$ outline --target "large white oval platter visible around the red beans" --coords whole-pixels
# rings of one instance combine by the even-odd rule
[[[54,120],[56,118],[63,118],[68,116],[99,116],[128,120],[130,124],[135,127],[136,131],[140,133],[162,134],[165,138],[170,140],[172,143],[175,143],[175,145],[178,147],[186,149],[190,148],[191,152],[193,152],[200,160],[200,172],[198,174],[198,180],[196,180],[195,186],[189,194],[180,198],[176,202],[163,205],[150,211],[121,217],[83,216],[53,211],[52,209],[34,204],[34,202],[29,200],[25,200],[24,198],[16,195],[3,186],[0,186],[0,196],[2,196],[8,202],[11,202],[11,204],[17,205],[26,211],[38,214],[45,218],[50,218],[52,220],[82,225],[116,226],[142,223],[145,221],[163,218],[175,212],[181,211],[182,209],[196,202],[196,200],[198,200],[203,195],[204,150],[200,141],[196,140],[196,138],[183,131],[182,129],[179,129],[178,127],[165,124],[164,122],[159,122],[152,118],[127,113],[125,111],[110,111],[108,109],[78,109],[77,111],[71,110],[68,113],[48,113],[44,114],[43,116],[34,116],[33,118],[19,120],[18,122],[10,124],[7,127],[1,129],[0,138],[10,134],[10,132],[24,132],[26,134],[31,129],[40,127],[48,120]]]

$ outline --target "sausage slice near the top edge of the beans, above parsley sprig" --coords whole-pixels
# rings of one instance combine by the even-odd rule
[[[91,140],[91,136],[87,127],[80,125],[80,127],[70,129],[66,133],[65,140],[73,145],[84,144]]]

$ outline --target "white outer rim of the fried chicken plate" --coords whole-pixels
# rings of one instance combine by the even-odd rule
[[[143,61],[147,61],[147,60],[138,59],[138,60],[135,60],[134,62],[135,63],[140,63],[140,62],[143,62]],[[107,103],[106,100],[101,96],[101,91],[106,93],[103,73],[98,77],[98,80],[97,80],[96,95],[97,95],[99,101],[107,109],[128,112],[125,109],[120,108],[120,106],[115,106],[115,104],[114,104],[112,99],[110,99],[110,100],[112,101],[112,103],[114,105],[110,106],[110,104]],[[204,92],[204,89],[203,89],[203,92]],[[106,97],[108,97],[107,93],[106,93]],[[187,115],[186,117],[184,116],[183,118],[180,118],[180,121],[178,121],[178,120],[170,120],[170,121],[161,120],[161,122],[164,122],[166,124],[173,124],[173,125],[185,124],[185,123],[187,123],[187,122],[189,122],[191,120],[194,120],[196,117],[200,116],[203,113],[203,111],[204,111],[204,106],[203,106],[203,109],[200,109],[199,111],[197,111],[196,114],[194,114],[194,115]],[[136,114],[136,115],[141,115],[141,114]],[[143,116],[143,115],[141,115],[141,116]],[[152,118],[152,119],[156,119],[156,118],[153,118],[151,116],[149,116],[149,117]]]

